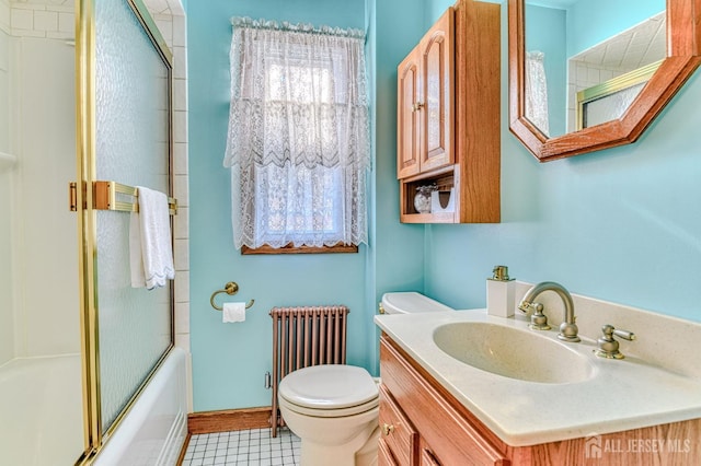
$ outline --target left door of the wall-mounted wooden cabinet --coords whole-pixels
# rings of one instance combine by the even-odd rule
[[[397,68],[397,177],[418,173],[420,151],[420,54],[414,49]]]

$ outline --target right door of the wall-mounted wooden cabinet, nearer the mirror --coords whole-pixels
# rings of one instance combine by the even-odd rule
[[[421,171],[452,164],[455,127],[455,14],[449,8],[420,44]]]

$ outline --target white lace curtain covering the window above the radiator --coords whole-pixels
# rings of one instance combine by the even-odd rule
[[[367,242],[369,118],[360,31],[232,19],[234,245]]]

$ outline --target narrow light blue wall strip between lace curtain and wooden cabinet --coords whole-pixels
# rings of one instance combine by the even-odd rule
[[[397,180],[397,66],[426,31],[423,0],[370,0],[375,4],[375,273],[377,307],[388,291],[424,291],[424,226],[399,222]],[[379,335],[379,331],[376,330]],[[376,335],[377,336],[377,335]],[[377,361],[376,345],[369,348]]]

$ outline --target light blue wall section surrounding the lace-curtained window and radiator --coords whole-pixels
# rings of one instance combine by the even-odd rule
[[[222,158],[229,116],[230,18],[365,28],[364,0],[208,0],[188,4],[191,347],[196,411],[269,406],[272,321],[278,305],[350,307],[348,362],[371,368],[374,308],[366,306],[366,257],[359,254],[241,256],[232,244],[229,172]],[[255,299],[242,324],[222,324],[209,296],[227,281]],[[218,301],[228,296],[219,296]]]

